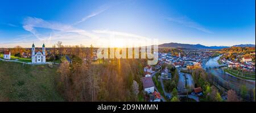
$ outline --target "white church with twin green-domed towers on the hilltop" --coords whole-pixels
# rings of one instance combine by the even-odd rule
[[[46,46],[43,44],[42,51],[35,50],[35,45],[32,45],[32,64],[44,64],[46,63]]]

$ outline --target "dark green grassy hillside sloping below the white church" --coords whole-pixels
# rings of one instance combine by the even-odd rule
[[[0,101],[64,101],[55,68],[0,61]]]

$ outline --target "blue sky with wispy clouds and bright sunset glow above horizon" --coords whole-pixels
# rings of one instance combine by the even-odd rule
[[[31,47],[33,42],[51,47],[59,40],[65,45],[100,46],[111,37],[208,46],[255,44],[255,1],[0,3],[0,47]]]

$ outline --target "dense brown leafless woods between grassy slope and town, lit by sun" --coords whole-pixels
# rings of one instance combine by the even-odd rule
[[[138,101],[142,93],[140,59],[115,59],[88,64],[73,56],[72,64],[63,61],[57,86],[67,101]]]

